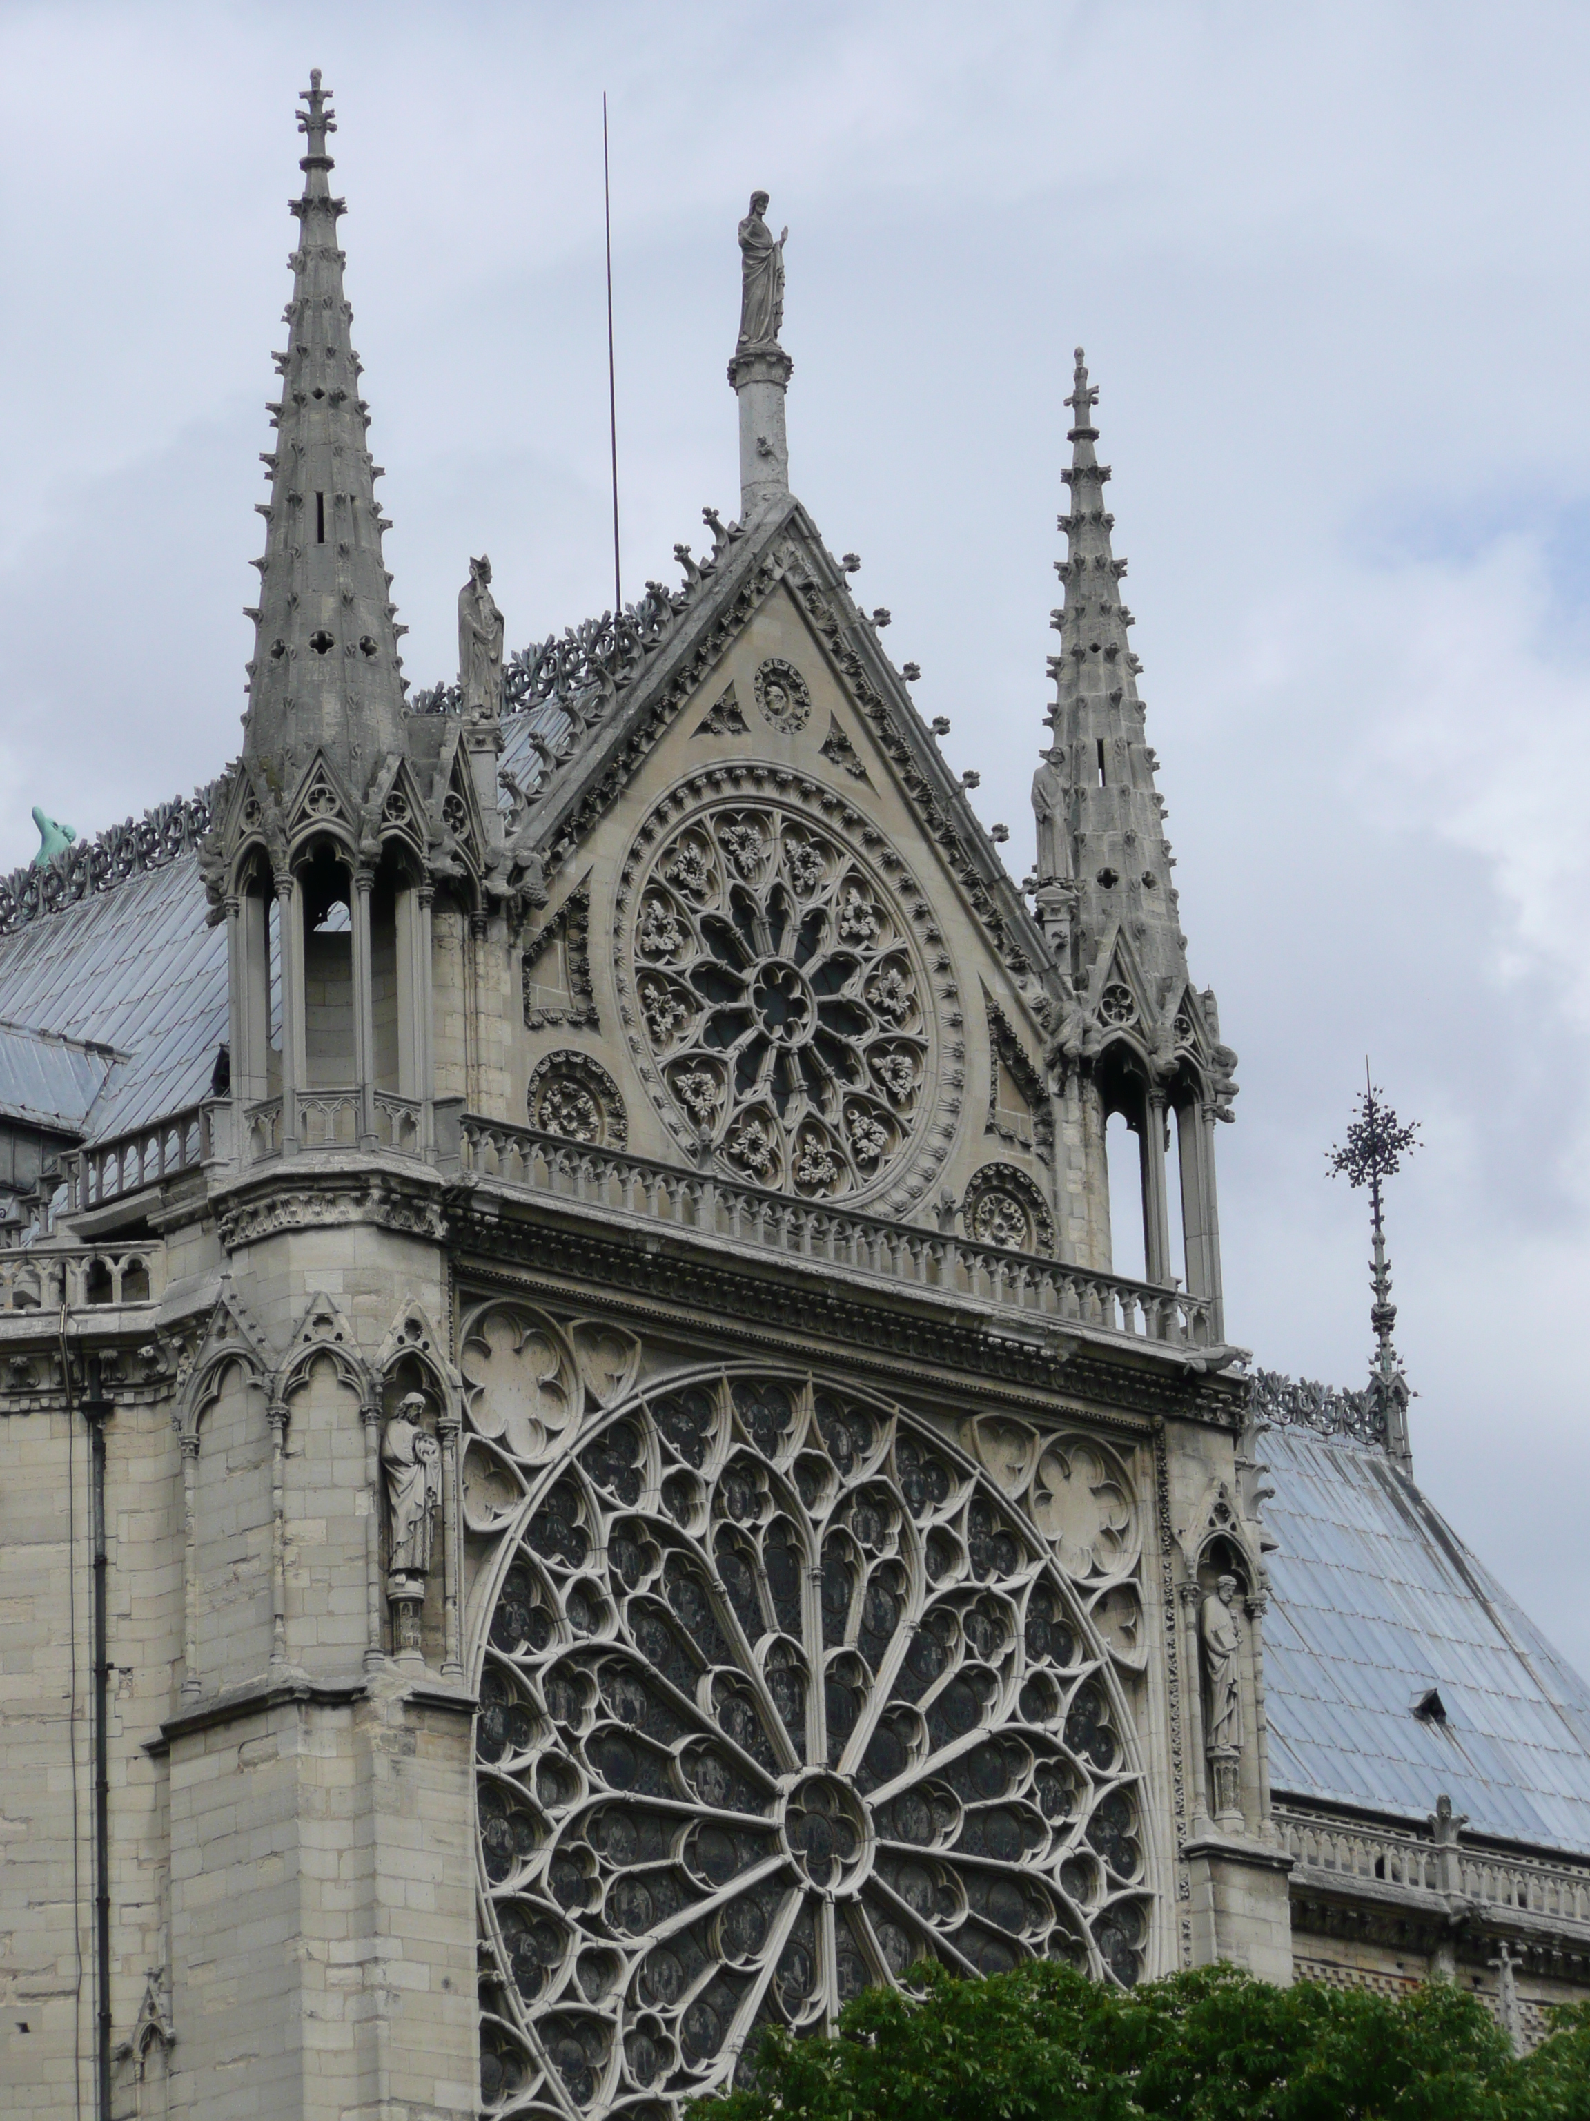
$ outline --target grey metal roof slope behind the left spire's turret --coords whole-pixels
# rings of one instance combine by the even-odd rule
[[[227,1037],[227,933],[206,927],[197,853],[0,935],[0,1022],[125,1056],[74,1122],[91,1141],[197,1103]]]

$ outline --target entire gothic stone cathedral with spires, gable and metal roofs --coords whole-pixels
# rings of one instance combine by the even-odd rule
[[[1018,884],[791,494],[763,193],[738,518],[513,658],[473,560],[409,696],[299,125],[242,757],[0,887],[8,2110],[670,2121],[924,1956],[1531,2038],[1590,1697],[1225,1336],[1081,354]]]

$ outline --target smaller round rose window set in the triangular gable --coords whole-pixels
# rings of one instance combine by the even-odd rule
[[[755,1186],[876,1186],[926,1109],[931,997],[882,880],[782,808],[697,814],[634,921],[644,1052],[689,1139]]]

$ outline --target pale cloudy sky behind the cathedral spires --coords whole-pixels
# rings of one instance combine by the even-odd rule
[[[1590,1669],[1590,13],[1514,0],[801,8],[0,4],[0,863],[237,747],[257,454],[335,89],[371,443],[449,674],[734,513],[734,223],[791,225],[791,477],[1030,857],[1071,348],[1132,562],[1194,971],[1242,1056],[1234,1338],[1359,1383],[1365,1052],[1420,1480]]]

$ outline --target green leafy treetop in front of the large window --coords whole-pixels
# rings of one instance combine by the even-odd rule
[[[1514,2059],[1452,1983],[1272,1987],[1230,1966],[1130,1994],[1054,1962],[918,1966],[835,2038],[770,2032],[755,2083],[691,2121],[1590,2121],[1590,2009]]]

